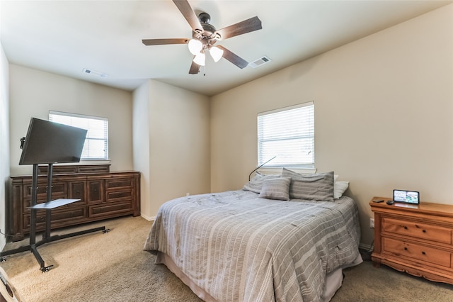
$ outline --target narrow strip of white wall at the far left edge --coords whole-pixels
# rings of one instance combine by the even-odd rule
[[[8,200],[9,184],[9,77],[8,60],[0,43],[0,230],[6,233],[5,204]],[[0,250],[6,244],[4,235],[0,235]]]

